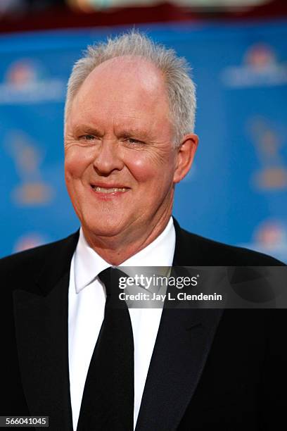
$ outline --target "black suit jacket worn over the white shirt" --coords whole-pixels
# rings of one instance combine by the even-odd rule
[[[281,265],[174,224],[174,266]],[[72,430],[68,283],[77,239],[0,261],[0,416],[49,416],[50,431]],[[286,320],[283,309],[164,309],[136,431],[284,429]]]

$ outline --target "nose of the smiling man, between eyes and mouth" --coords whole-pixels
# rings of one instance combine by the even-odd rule
[[[114,170],[122,170],[124,163],[119,144],[111,139],[103,139],[93,164],[98,175],[107,176]]]

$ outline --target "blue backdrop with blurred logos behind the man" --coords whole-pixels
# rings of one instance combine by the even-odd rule
[[[141,27],[186,56],[200,146],[177,187],[186,229],[287,261],[287,21]],[[63,106],[72,64],[114,30],[0,37],[0,256],[79,223],[63,180]]]

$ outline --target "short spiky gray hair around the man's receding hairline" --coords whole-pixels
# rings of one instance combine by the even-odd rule
[[[104,61],[119,56],[140,56],[162,71],[167,86],[170,120],[174,125],[173,144],[178,146],[184,135],[193,132],[195,123],[196,88],[189,77],[189,64],[185,58],[178,57],[173,49],[156,44],[136,30],[88,46],[84,56],[75,63],[68,81],[65,121],[72,100],[89,73]]]

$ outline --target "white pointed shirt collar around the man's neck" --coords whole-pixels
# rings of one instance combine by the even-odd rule
[[[122,262],[120,266],[172,266],[175,248],[175,230],[172,217],[165,230],[139,253]],[[82,227],[75,249],[75,288],[79,293],[93,282],[101,271],[110,267],[87,243]]]

